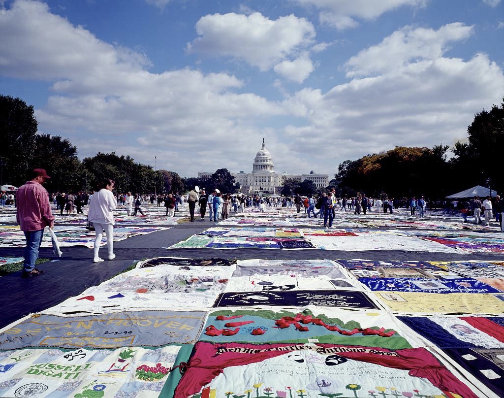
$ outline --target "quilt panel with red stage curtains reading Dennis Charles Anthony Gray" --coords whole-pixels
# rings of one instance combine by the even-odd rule
[[[174,396],[379,398],[394,392],[406,397],[478,396],[424,348],[206,342],[196,345]]]

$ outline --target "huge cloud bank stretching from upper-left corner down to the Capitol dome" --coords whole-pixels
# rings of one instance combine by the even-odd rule
[[[205,162],[229,157],[232,137],[244,145],[237,159],[246,158],[262,139],[258,121],[285,112],[240,93],[243,82],[226,73],[150,73],[142,54],[99,40],[39,2],[1,10],[0,36],[0,74],[53,82],[54,94],[36,109],[39,131],[69,138],[80,156],[115,150],[152,163],[158,154],[159,168],[196,175]]]

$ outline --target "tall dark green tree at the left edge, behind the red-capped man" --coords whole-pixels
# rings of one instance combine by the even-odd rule
[[[0,160],[2,183],[20,186],[27,181],[35,150],[37,121],[32,105],[0,95]]]

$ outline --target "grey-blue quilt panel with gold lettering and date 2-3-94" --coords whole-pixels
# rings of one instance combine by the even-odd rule
[[[123,311],[75,317],[37,314],[0,333],[0,351],[194,344],[205,315],[204,311]]]

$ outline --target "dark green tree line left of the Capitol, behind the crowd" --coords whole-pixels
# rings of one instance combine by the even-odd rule
[[[129,155],[98,152],[82,161],[70,140],[49,134],[37,134],[38,123],[33,105],[20,98],[0,95],[0,179],[2,185],[21,186],[30,170],[45,168],[51,179],[49,192],[90,192],[104,178],[115,181],[117,192],[160,194],[185,192],[200,183],[208,189],[233,193],[239,188],[225,168],[211,178],[183,178],[170,170],[154,170]]]

